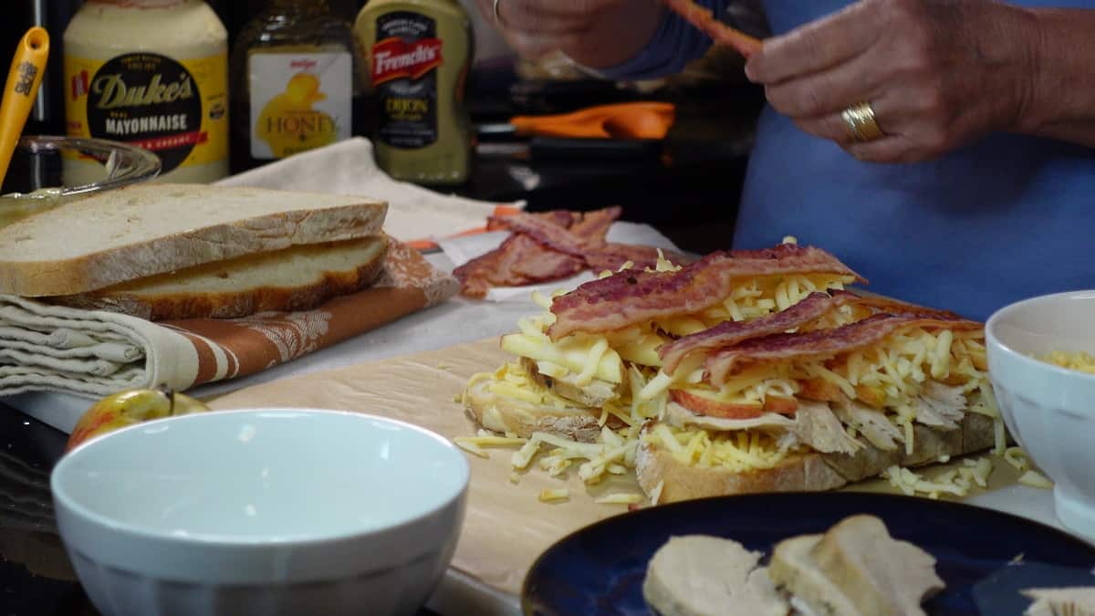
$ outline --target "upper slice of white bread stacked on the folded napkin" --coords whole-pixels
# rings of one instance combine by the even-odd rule
[[[381,233],[388,205],[345,195],[139,184],[0,228],[0,293],[73,295],[290,246]]]

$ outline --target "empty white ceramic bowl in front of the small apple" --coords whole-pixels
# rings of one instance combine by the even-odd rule
[[[417,426],[254,409],[91,440],[51,488],[105,615],[413,614],[452,557],[468,478]]]

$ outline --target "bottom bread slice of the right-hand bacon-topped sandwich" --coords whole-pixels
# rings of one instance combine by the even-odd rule
[[[644,429],[644,434],[654,424]],[[638,484],[650,494],[661,484],[659,502],[676,502],[724,494],[759,492],[809,492],[833,490],[876,477],[886,468],[931,464],[942,456],[958,456],[993,445],[991,419],[967,412],[957,430],[942,431],[917,424],[912,454],[904,447],[884,452],[867,445],[854,455],[792,454],[773,468],[738,472],[725,467],[690,466],[670,452],[644,442],[635,456]]]

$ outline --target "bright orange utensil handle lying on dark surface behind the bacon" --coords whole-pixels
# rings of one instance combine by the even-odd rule
[[[519,115],[509,122],[518,135],[662,139],[675,118],[672,103],[636,102],[597,105],[558,115]]]

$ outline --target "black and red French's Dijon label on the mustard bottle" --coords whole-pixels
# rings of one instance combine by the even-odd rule
[[[377,18],[372,85],[380,105],[379,138],[399,148],[437,141],[437,68],[445,61],[437,24],[412,11]]]

